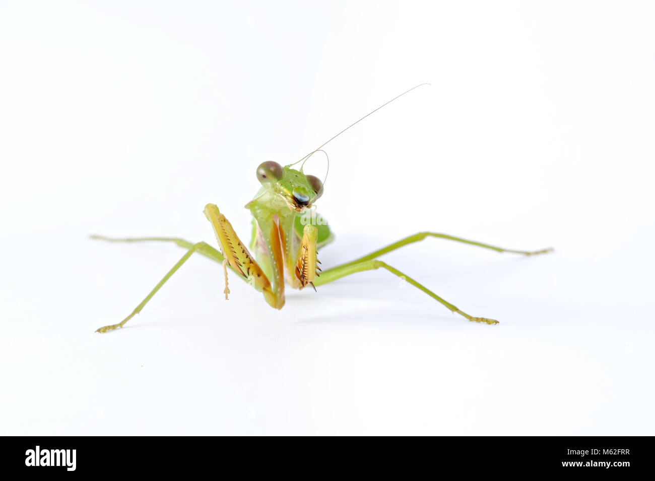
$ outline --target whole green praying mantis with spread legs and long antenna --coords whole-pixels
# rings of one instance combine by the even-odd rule
[[[324,221],[324,219],[316,213],[315,202],[322,196],[324,190],[324,181],[318,179],[314,175],[307,175],[303,172],[303,166],[309,158],[317,152],[327,153],[323,147],[327,143],[333,141],[336,137],[343,134],[346,130],[358,124],[367,116],[375,113],[388,103],[402,97],[403,95],[411,92],[415,88],[422,85],[417,85],[399,96],[396,96],[384,103],[374,111],[363,116],[339,134],[334,135],[323,143],[318,149],[310,152],[299,161],[294,162],[288,166],[280,166],[276,162],[267,161],[263,162],[257,168],[257,179],[261,183],[261,188],[253,200],[246,204],[246,209],[250,210],[252,214],[252,237],[248,248],[238,238],[236,232],[232,228],[225,215],[223,215],[215,204],[207,204],[204,207],[204,215],[212,224],[215,238],[220,247],[220,251],[212,247],[206,242],[189,242],[180,238],[107,238],[104,236],[91,236],[96,240],[104,240],[109,242],[143,242],[143,241],[162,241],[170,242],[179,247],[187,249],[178,262],[168,271],[154,289],[141,301],[141,304],[136,306],[134,311],[130,313],[125,319],[118,324],[100,327],[96,332],[108,332],[120,327],[123,327],[127,321],[132,319],[134,315],[141,312],[143,307],[153,298],[159,289],[170,279],[173,274],[193,255],[199,253],[204,257],[215,260],[223,266],[223,274],[225,276],[225,299],[228,298],[230,293],[228,287],[228,271],[231,270],[238,277],[241,277],[248,282],[257,291],[263,293],[266,302],[272,308],[282,309],[284,307],[284,287],[286,283],[293,289],[304,289],[307,285],[311,285],[314,290],[316,286],[324,285],[329,282],[340,279],[341,277],[350,276],[357,272],[364,272],[367,270],[375,270],[384,268],[395,276],[404,279],[407,283],[421,289],[428,296],[434,298],[454,313],[462,315],[469,321],[487,324],[498,324],[494,319],[487,317],[474,317],[460,310],[447,300],[441,298],[433,293],[411,277],[403,274],[400,270],[386,264],[379,257],[394,249],[399,249],[404,245],[424,240],[428,237],[447,239],[456,242],[462,242],[485,249],[491,249],[497,252],[508,252],[521,255],[537,255],[548,253],[552,249],[541,249],[539,251],[517,251],[514,249],[503,249],[495,245],[477,242],[449,236],[447,234],[439,234],[437,232],[419,232],[413,236],[406,237],[402,240],[394,242],[382,249],[378,249],[365,255],[364,257],[356,258],[345,264],[333,267],[331,269],[322,271],[320,268],[320,261],[318,260],[318,249],[327,245],[334,239],[333,232]],[[293,166],[301,164],[299,169],[294,169]],[[329,158],[328,158],[329,169]],[[327,178],[327,174],[326,174]],[[251,253],[252,252],[252,253]],[[253,255],[254,254],[254,255]],[[286,277],[285,277],[286,274]]]

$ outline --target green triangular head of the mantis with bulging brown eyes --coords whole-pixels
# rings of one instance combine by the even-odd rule
[[[300,170],[282,167],[272,160],[259,164],[257,180],[282,196],[289,207],[298,212],[311,207],[323,194],[323,183],[318,177],[303,173],[302,167]]]

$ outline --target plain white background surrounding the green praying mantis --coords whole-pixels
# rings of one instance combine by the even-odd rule
[[[653,435],[648,2],[0,3],[0,434]],[[244,240],[263,160],[327,145],[325,267],[286,307],[183,251]],[[308,173],[322,176],[316,156]]]

